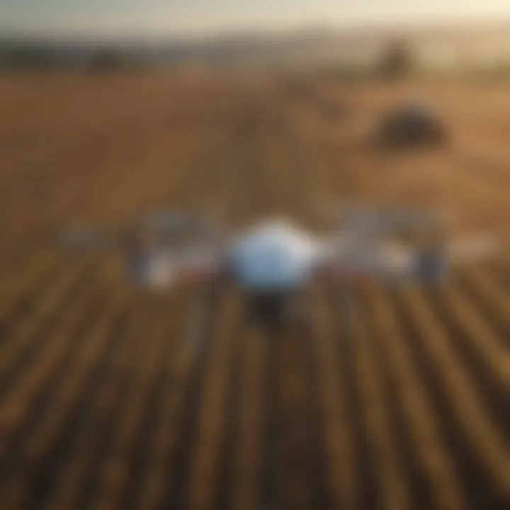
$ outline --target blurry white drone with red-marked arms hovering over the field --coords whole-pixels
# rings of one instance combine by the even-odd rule
[[[59,243],[73,250],[115,250],[136,288],[165,292],[183,285],[231,282],[242,289],[249,317],[278,322],[314,280],[350,288],[367,279],[389,285],[441,285],[448,270],[492,256],[490,234],[448,239],[441,215],[344,206],[329,232],[310,232],[285,217],[227,229],[208,217],[163,210],[113,232],[67,229]],[[421,242],[404,241],[412,237]],[[425,240],[423,240],[425,239]]]

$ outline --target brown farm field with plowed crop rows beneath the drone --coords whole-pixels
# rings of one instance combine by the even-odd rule
[[[352,195],[508,225],[508,92],[428,86],[453,147],[383,161],[314,98],[370,119],[398,89],[3,78],[0,509],[508,509],[504,257],[441,292],[372,285],[346,303],[317,285],[302,323],[268,333],[235,289],[137,294],[115,257],[47,242],[166,205],[322,227],[317,210]]]

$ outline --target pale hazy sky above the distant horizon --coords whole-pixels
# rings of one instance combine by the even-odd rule
[[[0,29],[186,35],[360,23],[510,19],[510,0],[0,0]]]

